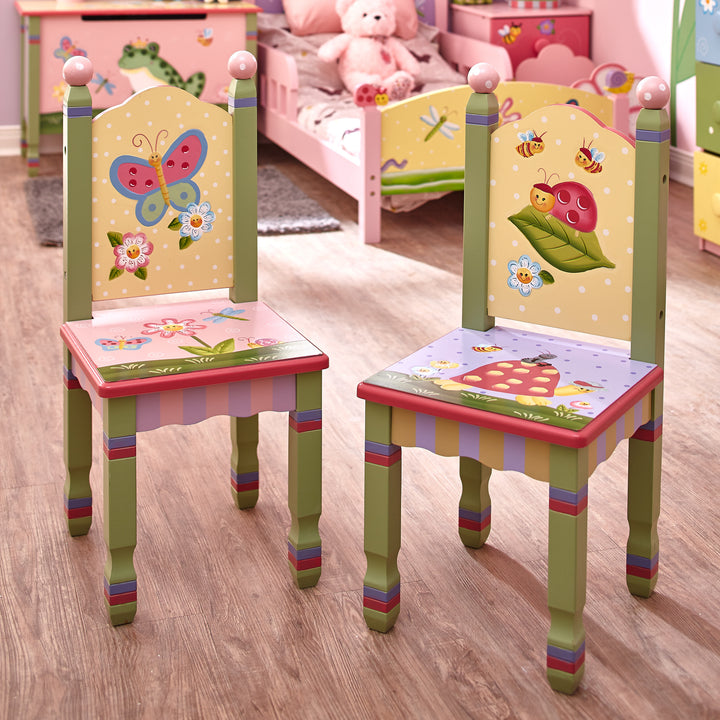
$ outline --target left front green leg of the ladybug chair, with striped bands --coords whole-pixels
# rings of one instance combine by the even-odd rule
[[[390,442],[392,408],[365,403],[365,557],[363,616],[387,632],[400,614],[402,451]]]

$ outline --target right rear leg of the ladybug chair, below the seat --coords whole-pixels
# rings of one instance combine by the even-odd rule
[[[658,577],[657,522],[660,515],[662,421],[650,422],[630,438],[626,581],[633,595],[649,597]]]

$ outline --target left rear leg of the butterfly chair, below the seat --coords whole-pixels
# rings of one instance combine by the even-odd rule
[[[69,360],[69,358],[68,358]],[[65,515],[70,535],[87,535],[92,524],[92,403],[65,368]]]

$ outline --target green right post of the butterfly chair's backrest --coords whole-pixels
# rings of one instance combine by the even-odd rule
[[[230,97],[256,98],[255,80],[233,80]],[[257,107],[230,108],[233,122],[233,302],[257,300]],[[279,198],[279,200],[281,200]]]

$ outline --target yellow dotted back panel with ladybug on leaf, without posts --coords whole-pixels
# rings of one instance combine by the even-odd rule
[[[488,312],[630,339],[635,150],[553,105],[492,136]]]

